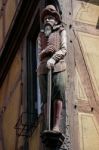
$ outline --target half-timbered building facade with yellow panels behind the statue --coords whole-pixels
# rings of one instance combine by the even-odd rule
[[[41,10],[53,4],[67,30],[63,150],[99,149],[99,1],[0,1],[0,150],[46,150],[37,78]]]

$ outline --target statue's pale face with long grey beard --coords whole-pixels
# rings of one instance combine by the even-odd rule
[[[52,32],[52,28],[54,25],[57,25],[58,22],[56,21],[54,16],[51,15],[47,15],[44,18],[44,32],[46,37],[49,37],[49,35]]]

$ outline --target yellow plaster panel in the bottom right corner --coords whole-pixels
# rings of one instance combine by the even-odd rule
[[[99,149],[99,124],[93,114],[79,113],[80,150]]]

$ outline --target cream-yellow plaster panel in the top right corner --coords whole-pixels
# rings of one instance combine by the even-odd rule
[[[99,19],[99,2],[97,0],[89,0],[88,3],[82,1],[78,6],[76,13],[76,21],[96,25]]]

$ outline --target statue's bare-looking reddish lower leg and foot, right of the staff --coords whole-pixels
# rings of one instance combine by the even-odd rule
[[[60,125],[60,120],[61,120],[62,105],[63,103],[60,100],[54,102],[53,131],[56,131],[56,132],[60,132],[59,125]]]

